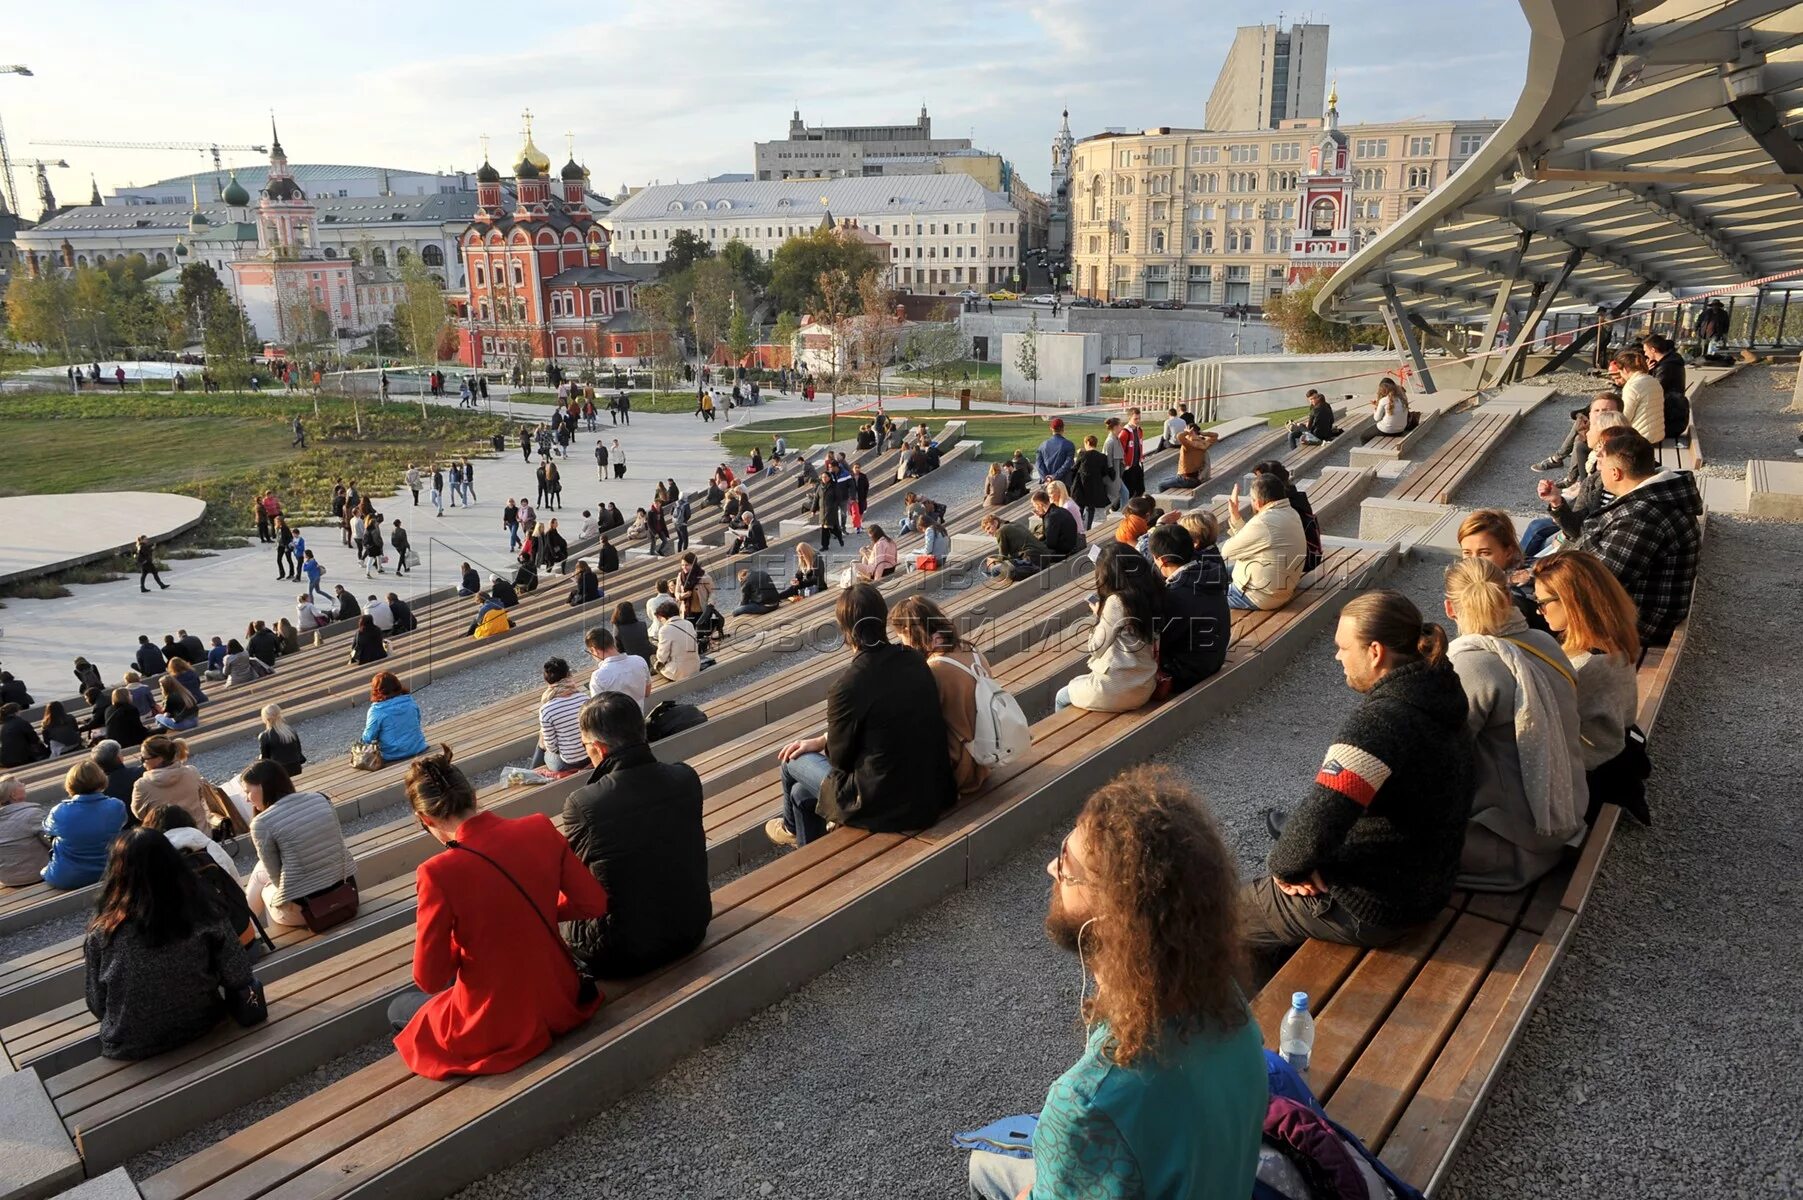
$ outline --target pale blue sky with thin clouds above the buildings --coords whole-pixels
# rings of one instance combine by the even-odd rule
[[[554,162],[597,189],[752,169],[752,142],[810,124],[907,124],[972,137],[1040,191],[1058,110],[1076,137],[1109,126],[1201,126],[1233,38],[1257,22],[1325,22],[1343,123],[1506,117],[1527,25],[1516,0],[1316,0],[1248,9],[1210,0],[599,0],[588,5],[339,4],[195,7],[78,0],[7,29],[0,119],[27,216],[25,159],[63,202],[211,166],[195,151],[36,141],[269,141],[294,162],[474,169],[519,148],[521,110]],[[261,155],[238,153],[238,162]]]

